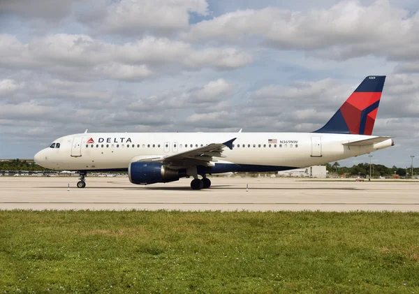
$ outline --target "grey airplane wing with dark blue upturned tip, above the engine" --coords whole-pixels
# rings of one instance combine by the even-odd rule
[[[138,161],[154,161],[168,164],[170,168],[184,168],[187,166],[213,166],[212,162],[216,162],[214,157],[223,156],[223,149],[228,147],[233,149],[233,142],[236,138],[223,143],[211,143],[203,147],[191,149],[185,152],[172,154],[169,156],[156,156],[154,158],[140,159]]]

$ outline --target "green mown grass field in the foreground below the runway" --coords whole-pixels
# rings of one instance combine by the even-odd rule
[[[419,214],[0,212],[0,293],[419,293]]]

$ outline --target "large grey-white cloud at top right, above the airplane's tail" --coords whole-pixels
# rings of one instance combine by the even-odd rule
[[[419,13],[395,8],[387,0],[369,6],[341,1],[307,12],[263,8],[238,10],[194,24],[186,40],[218,38],[237,42],[249,36],[281,50],[304,50],[324,59],[344,60],[369,54],[388,59],[417,59]]]

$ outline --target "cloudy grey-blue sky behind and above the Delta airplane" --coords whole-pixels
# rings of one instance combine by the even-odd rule
[[[71,133],[320,128],[387,75],[374,135],[419,161],[419,1],[0,1],[0,158]],[[341,161],[352,165],[367,156]]]

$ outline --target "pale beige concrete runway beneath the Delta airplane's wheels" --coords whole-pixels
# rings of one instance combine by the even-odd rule
[[[87,187],[78,189],[76,177],[0,177],[0,209],[419,211],[419,181],[306,182],[269,177],[211,180],[210,189],[193,191],[190,179],[138,186],[126,177],[87,177]]]

